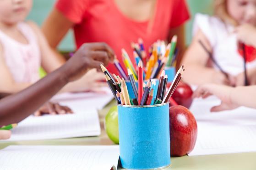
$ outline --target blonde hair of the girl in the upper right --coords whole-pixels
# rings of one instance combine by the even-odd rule
[[[214,0],[214,15],[219,17],[223,22],[237,26],[237,22],[229,15],[227,9],[227,0]]]

